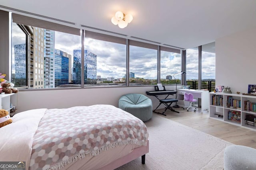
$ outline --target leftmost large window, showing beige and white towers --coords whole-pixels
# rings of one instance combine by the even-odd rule
[[[79,87],[79,81],[73,79],[73,50],[81,49],[80,29],[64,28],[47,21],[33,22],[31,20],[37,19],[17,14],[13,20],[12,82],[15,86],[59,88],[73,84]],[[81,80],[81,76],[75,76]]]

